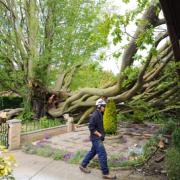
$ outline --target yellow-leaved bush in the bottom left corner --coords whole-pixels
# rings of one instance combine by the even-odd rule
[[[16,161],[14,156],[6,155],[5,152],[5,148],[0,146],[0,177],[2,177],[2,179],[14,179],[12,171]]]

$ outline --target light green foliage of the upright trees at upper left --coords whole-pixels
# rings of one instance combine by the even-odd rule
[[[6,3],[0,7],[0,80],[4,89],[29,98],[30,81],[51,86],[61,72],[88,62],[92,53],[107,45],[111,19],[101,11],[103,0]]]

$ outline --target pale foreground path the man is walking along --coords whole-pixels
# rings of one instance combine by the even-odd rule
[[[55,161],[37,155],[25,154],[22,151],[13,151],[17,160],[17,167],[13,175],[16,180],[102,180],[101,172],[92,169],[90,174],[84,174],[78,165]],[[164,180],[161,177],[142,176],[133,174],[130,170],[114,172],[117,180]]]

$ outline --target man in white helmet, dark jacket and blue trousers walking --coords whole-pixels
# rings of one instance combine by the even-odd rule
[[[116,176],[110,175],[109,168],[107,165],[107,153],[103,144],[105,132],[103,126],[103,113],[105,111],[106,102],[103,99],[96,101],[96,111],[92,114],[89,120],[90,140],[92,142],[91,150],[86,154],[80,165],[80,170],[84,173],[90,173],[91,171],[87,168],[90,160],[97,154],[102,177],[104,179],[116,179]]]

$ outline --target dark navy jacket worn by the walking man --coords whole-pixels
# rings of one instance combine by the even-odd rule
[[[89,119],[89,130],[90,130],[90,140],[101,139],[104,140],[105,132],[103,126],[103,115],[100,111],[96,110],[92,114]],[[99,138],[97,135],[94,134],[95,131],[98,131],[102,134],[102,137]]]

